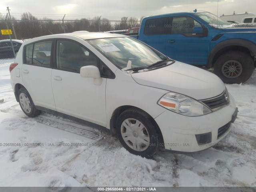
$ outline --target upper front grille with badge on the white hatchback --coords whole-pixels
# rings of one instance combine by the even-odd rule
[[[207,99],[207,100],[200,100],[204,104],[206,104],[210,109],[216,109],[218,107],[228,105],[229,104],[229,97],[228,91],[224,91],[220,96],[215,98]]]

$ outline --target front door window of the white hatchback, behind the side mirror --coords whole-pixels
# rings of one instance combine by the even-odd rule
[[[57,68],[80,73],[80,68],[87,65],[98,66],[97,58],[80,44],[67,40],[57,41]]]

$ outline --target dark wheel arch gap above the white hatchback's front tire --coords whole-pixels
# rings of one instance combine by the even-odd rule
[[[162,132],[158,126],[158,124],[156,123],[156,121],[154,120],[154,118],[152,118],[152,116],[150,116],[150,114],[148,114],[146,111],[138,108],[138,107],[135,107],[135,106],[130,106],[130,105],[124,105],[124,106],[120,106],[118,108],[116,108],[114,110],[114,112],[112,113],[112,116],[111,116],[111,119],[110,119],[110,133],[112,134],[112,136],[116,136],[116,122],[117,122],[117,119],[118,119],[118,116],[124,112],[125,110],[127,109],[130,109],[130,108],[135,108],[137,110],[140,110],[144,113],[146,113],[149,117],[150,117],[150,121],[152,122],[152,124],[154,124],[154,127],[156,128],[156,131],[158,132],[158,134],[160,135],[160,139],[161,139],[161,143],[164,142],[164,138],[162,136]]]

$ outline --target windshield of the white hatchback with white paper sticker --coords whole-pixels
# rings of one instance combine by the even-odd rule
[[[92,39],[87,42],[119,69],[147,68],[167,59],[166,56],[130,37]],[[130,66],[128,62],[131,63]]]

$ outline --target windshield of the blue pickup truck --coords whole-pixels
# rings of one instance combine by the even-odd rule
[[[212,13],[196,13],[198,17],[207,22],[208,24],[212,24],[213,27],[218,28],[218,26],[230,25],[229,22],[223,20],[222,18],[212,14]]]

